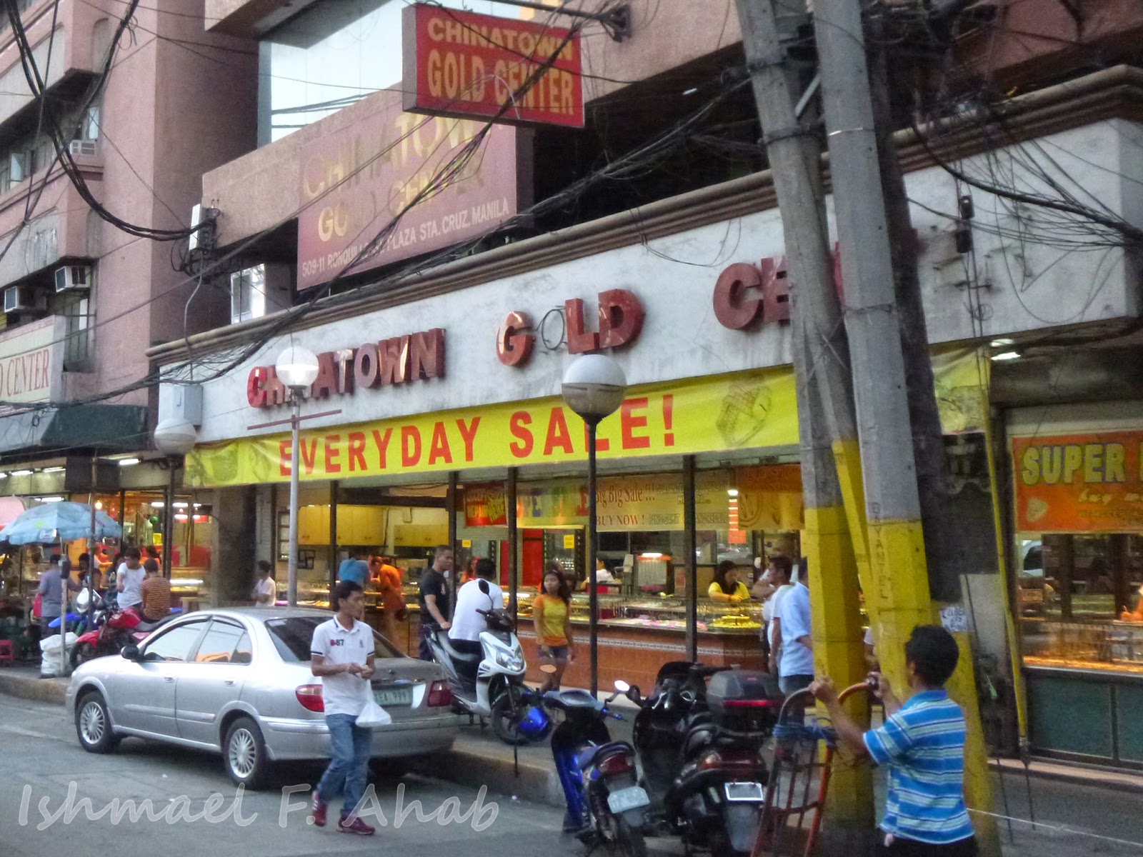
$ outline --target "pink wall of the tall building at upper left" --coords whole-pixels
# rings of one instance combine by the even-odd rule
[[[48,38],[50,7],[45,0],[25,13],[33,48]],[[62,2],[53,69],[62,77],[97,65],[123,9],[115,0]],[[256,144],[257,46],[205,33],[202,15],[203,0],[147,0],[138,7],[134,39],[120,45],[104,94],[98,155],[81,159],[96,198],[135,224],[187,225],[201,199],[202,174]],[[18,64],[9,32],[0,42],[0,78],[18,71]],[[0,195],[0,241],[22,221],[27,186],[24,182]],[[48,183],[35,217],[58,224],[56,258],[98,259],[94,371],[65,373],[64,399],[98,395],[143,378],[146,349],[183,335],[183,311],[194,289],[171,269],[171,245],[136,238],[98,218],[62,175]],[[0,287],[54,263],[9,270],[0,261]],[[203,286],[199,298],[187,313],[189,333],[225,323],[226,304],[215,289]],[[153,395],[139,390],[113,401],[146,405]]]

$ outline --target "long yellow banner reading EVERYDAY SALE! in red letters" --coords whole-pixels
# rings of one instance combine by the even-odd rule
[[[789,367],[632,387],[599,425],[600,458],[709,452],[798,443]],[[303,431],[306,481],[582,460],[583,421],[559,398]],[[201,444],[186,456],[189,487],[285,482],[289,434]]]

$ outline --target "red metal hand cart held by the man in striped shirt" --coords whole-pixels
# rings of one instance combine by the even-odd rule
[[[868,683],[852,684],[838,698],[870,692]],[[818,723],[794,722],[792,712],[813,702],[809,690],[792,694],[778,712],[774,729],[774,764],[766,804],[751,857],[810,857],[822,826],[822,814],[833,772],[838,736]],[[825,752],[818,752],[818,744]]]

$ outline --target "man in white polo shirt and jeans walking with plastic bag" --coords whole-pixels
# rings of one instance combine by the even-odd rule
[[[321,678],[333,755],[313,793],[313,823],[319,827],[326,825],[326,808],[341,791],[344,802],[337,830],[368,836],[374,828],[352,812],[365,794],[373,744],[373,732],[357,724],[369,699],[375,654],[373,628],[361,620],[365,614],[361,584],[341,580],[334,587],[334,603],[337,615],[314,628],[310,644],[310,670]]]

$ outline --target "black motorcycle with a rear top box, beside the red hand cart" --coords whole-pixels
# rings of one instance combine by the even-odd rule
[[[762,745],[782,705],[768,673],[689,662],[665,664],[639,705],[634,746],[653,822],[688,848],[746,855],[769,779]]]

